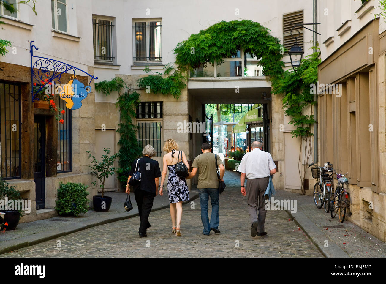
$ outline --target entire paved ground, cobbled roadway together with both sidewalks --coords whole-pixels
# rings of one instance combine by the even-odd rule
[[[55,217],[19,224],[15,231],[0,233],[0,253],[21,248],[0,257],[384,257],[386,254],[386,243],[349,221],[340,223],[339,218],[332,219],[330,213],[314,205],[313,197],[283,190],[276,190],[274,198],[296,200],[296,213],[283,208],[270,210],[266,219],[268,235],[252,238],[246,198],[240,194],[240,175],[227,170],[224,179],[227,188],[220,196],[221,234],[213,231],[210,236],[201,234],[200,202],[195,199],[194,203],[189,201],[183,206],[182,237],[175,237],[171,233],[168,197],[164,194],[154,201],[153,209],[161,210],[150,214],[152,226],[148,236],[139,238],[134,195],[135,211],[127,213],[122,208],[125,194],[109,192],[115,200],[109,213],[89,211],[78,218]],[[190,194],[192,198],[198,196],[195,189]],[[90,228],[98,224],[103,225]],[[12,247],[13,244],[16,246]]]

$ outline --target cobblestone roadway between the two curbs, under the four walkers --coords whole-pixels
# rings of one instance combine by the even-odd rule
[[[232,173],[229,175],[227,184],[237,185],[239,181]],[[202,235],[199,199],[193,202],[183,206],[181,237],[171,232],[169,209],[162,209],[150,214],[152,226],[146,238],[138,236],[137,216],[0,257],[322,257],[285,211],[269,211],[268,235],[252,238],[246,198],[240,194],[239,187],[229,186],[220,196],[221,234],[212,231],[210,236]]]

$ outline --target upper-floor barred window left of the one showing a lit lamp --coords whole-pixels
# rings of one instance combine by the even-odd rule
[[[113,26],[110,20],[93,17],[94,60],[110,62],[114,60]]]

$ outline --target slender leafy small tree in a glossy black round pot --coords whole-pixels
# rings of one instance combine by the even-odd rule
[[[105,189],[105,179],[110,175],[114,174],[115,167],[113,167],[114,160],[117,158],[118,154],[110,156],[110,148],[103,148],[105,155],[102,155],[102,162],[91,155],[91,151],[86,151],[88,153],[88,158],[93,158],[91,165],[91,174],[97,177],[97,180],[100,181],[99,187],[102,188],[102,195],[93,196],[93,206],[94,210],[98,212],[107,212],[110,209],[112,198],[104,195]],[[97,180],[94,180],[92,184],[97,185]]]

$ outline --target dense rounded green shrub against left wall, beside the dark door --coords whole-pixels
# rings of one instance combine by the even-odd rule
[[[55,210],[58,211],[59,215],[63,216],[75,216],[86,213],[88,211],[87,199],[87,185],[75,184],[68,182],[63,184],[60,183],[58,189],[58,200],[56,202]]]

